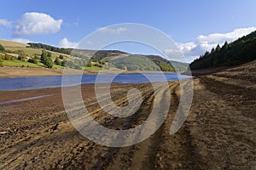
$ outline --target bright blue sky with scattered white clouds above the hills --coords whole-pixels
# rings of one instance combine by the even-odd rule
[[[188,62],[218,43],[232,42],[256,30],[255,0],[2,0],[1,5],[0,39],[73,48],[94,31],[115,36],[126,28],[109,31],[108,26],[137,23],[172,38]],[[154,53],[141,45],[127,46],[109,48]],[[172,52],[166,48],[166,53]]]

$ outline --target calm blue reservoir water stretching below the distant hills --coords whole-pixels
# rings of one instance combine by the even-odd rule
[[[179,73],[165,73],[167,81],[175,81],[178,79],[189,78],[189,76]],[[88,83],[144,83],[144,82],[162,82],[162,74],[160,73],[132,73],[115,75],[70,75],[65,76],[66,80],[70,80],[64,84],[75,85],[73,80],[80,80],[81,84]],[[150,81],[147,77],[150,77]],[[61,87],[62,76],[47,76],[47,77],[15,77],[15,78],[0,78],[0,90],[20,90],[33,88],[57,88]],[[100,80],[100,81],[96,81]]]

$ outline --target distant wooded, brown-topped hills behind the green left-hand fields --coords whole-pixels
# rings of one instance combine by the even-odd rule
[[[177,61],[171,62],[167,59],[160,57],[159,55],[129,54],[119,50],[55,48],[53,46],[49,46],[42,43],[29,43],[29,45],[31,48],[44,48],[53,52],[62,52],[64,54],[73,55],[83,61],[74,61],[82,68],[86,65],[88,66],[88,62],[90,63],[89,65],[96,66],[99,68],[102,68],[105,64],[107,64],[104,68],[121,70],[124,69],[127,71],[158,71],[159,68],[160,71],[186,71],[189,66],[187,63],[181,63]],[[151,63],[141,63],[145,62],[145,59],[150,60]],[[73,66],[73,64],[71,66]]]

